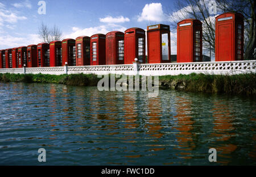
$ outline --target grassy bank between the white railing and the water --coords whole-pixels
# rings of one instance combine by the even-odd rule
[[[72,86],[97,86],[100,79],[95,74],[0,74],[0,82],[61,83]],[[159,77],[159,86],[163,89],[256,96],[256,74],[165,75]]]

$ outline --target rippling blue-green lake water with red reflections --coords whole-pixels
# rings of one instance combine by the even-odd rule
[[[0,83],[0,105],[0,165],[256,165],[251,98]]]

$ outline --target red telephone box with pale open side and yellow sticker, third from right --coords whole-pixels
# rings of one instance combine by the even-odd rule
[[[147,27],[148,64],[171,62],[170,26],[156,24]]]

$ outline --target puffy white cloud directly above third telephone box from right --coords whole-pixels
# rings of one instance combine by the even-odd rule
[[[162,22],[165,20],[167,20],[167,15],[164,14],[161,3],[146,4],[142,10],[142,13],[138,16],[138,22]]]

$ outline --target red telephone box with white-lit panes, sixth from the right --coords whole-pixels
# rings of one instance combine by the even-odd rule
[[[90,36],[90,64],[106,64],[106,35],[96,34]]]

